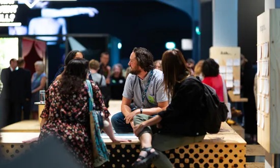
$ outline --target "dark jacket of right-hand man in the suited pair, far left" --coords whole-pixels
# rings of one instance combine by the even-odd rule
[[[23,103],[26,99],[31,99],[31,72],[18,68],[10,76],[10,100]]]

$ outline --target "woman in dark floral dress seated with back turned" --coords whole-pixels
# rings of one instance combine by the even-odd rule
[[[84,84],[89,74],[85,59],[70,61],[60,80],[54,81],[46,91],[45,108],[42,111],[39,142],[49,135],[57,136],[82,167],[93,167],[90,129],[88,86]],[[96,110],[101,110],[109,126],[104,131],[113,142],[128,142],[114,136],[101,92],[91,81]],[[38,139],[38,138],[37,138]],[[36,138],[26,141],[34,142]]]

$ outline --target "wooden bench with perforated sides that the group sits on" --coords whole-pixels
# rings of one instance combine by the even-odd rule
[[[22,141],[38,137],[38,132],[3,132],[0,150],[5,159],[11,160],[36,144],[23,144]],[[139,141],[134,135],[126,137],[131,143],[112,143],[103,136],[110,154],[110,161],[103,167],[131,167],[136,160]],[[246,142],[227,123],[222,123],[220,132],[207,134],[201,143],[191,144],[165,151],[175,167],[244,167],[246,164]],[[155,167],[151,165],[151,167]],[[160,167],[158,167],[160,168]]]

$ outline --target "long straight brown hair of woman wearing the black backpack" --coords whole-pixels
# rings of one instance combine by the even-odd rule
[[[188,75],[190,70],[186,67],[186,61],[182,52],[179,49],[170,49],[162,55],[162,72],[164,91],[170,98],[174,96],[174,86],[176,82],[181,82]]]

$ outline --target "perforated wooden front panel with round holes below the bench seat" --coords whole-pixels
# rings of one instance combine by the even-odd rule
[[[24,154],[34,144],[1,144],[4,158]],[[110,161],[101,167],[131,167],[140,152],[139,145],[107,145]],[[244,144],[198,143],[164,152],[175,167],[245,167],[246,147]],[[151,165],[151,167],[155,167]]]

